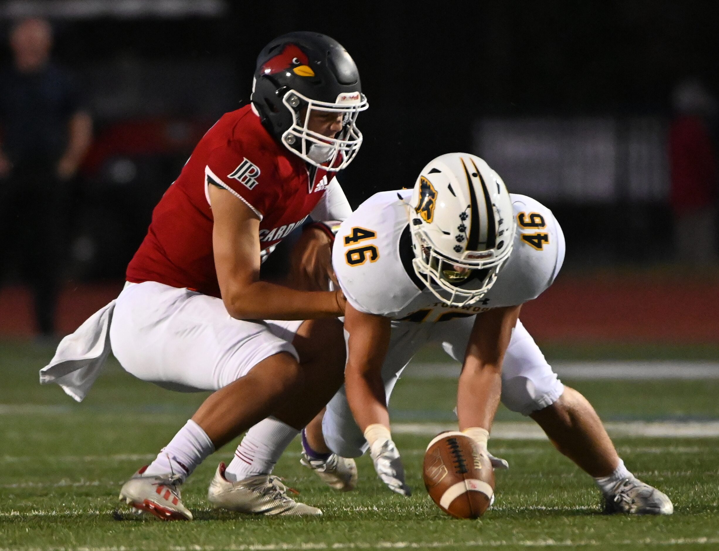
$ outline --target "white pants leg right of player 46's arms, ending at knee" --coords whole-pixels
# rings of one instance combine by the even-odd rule
[[[562,381],[517,320],[502,364],[502,403],[512,411],[529,415],[554,404],[562,392]]]

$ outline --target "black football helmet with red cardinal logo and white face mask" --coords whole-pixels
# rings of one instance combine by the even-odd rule
[[[362,145],[354,123],[367,98],[357,66],[339,42],[319,32],[290,32],[262,49],[252,108],[285,147],[324,170],[342,170]],[[313,111],[341,113],[342,130],[332,138],[312,132]]]

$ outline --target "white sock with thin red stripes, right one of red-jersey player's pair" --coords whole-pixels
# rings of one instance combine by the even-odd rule
[[[251,427],[237,446],[225,478],[230,482],[272,473],[285,448],[300,432],[274,417],[267,417]]]

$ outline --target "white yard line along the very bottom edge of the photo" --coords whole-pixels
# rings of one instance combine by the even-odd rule
[[[242,545],[178,545],[173,547],[125,547],[124,545],[112,547],[0,547],[0,551],[295,551],[295,550],[334,550],[334,549],[443,549],[443,548],[472,548],[472,547],[502,547],[515,545],[517,547],[615,547],[638,545],[716,545],[718,537],[693,537],[670,539],[620,539],[613,541],[599,541],[597,539],[479,539],[469,542],[349,542],[349,543],[270,543],[270,544],[242,544]]]

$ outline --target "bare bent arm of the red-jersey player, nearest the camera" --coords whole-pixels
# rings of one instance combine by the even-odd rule
[[[341,316],[341,291],[296,291],[260,281],[260,218],[247,204],[208,186],[214,217],[212,246],[222,301],[237,319],[314,319]]]

